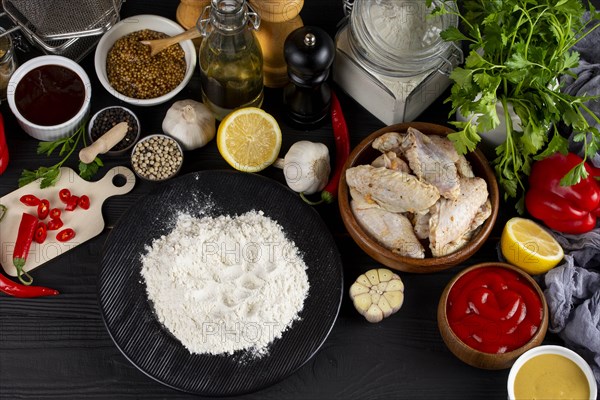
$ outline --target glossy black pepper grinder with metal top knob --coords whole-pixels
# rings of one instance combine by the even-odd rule
[[[290,33],[283,46],[290,79],[283,89],[286,114],[304,128],[316,127],[329,114],[333,40],[321,28],[303,26]]]

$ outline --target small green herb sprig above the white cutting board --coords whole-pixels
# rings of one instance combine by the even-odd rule
[[[56,184],[60,178],[60,167],[69,159],[71,154],[77,148],[79,142],[83,142],[83,146],[86,146],[85,140],[85,123],[83,123],[75,133],[71,136],[58,139],[53,142],[40,142],[37,148],[37,154],[45,154],[50,156],[56,149],[60,148],[58,155],[63,156],[62,160],[50,167],[39,167],[34,171],[23,170],[21,177],[19,178],[19,187],[25,186],[37,179],[41,178],[40,188],[50,187]],[[86,164],[79,162],[79,176],[85,180],[90,180],[98,169],[104,164],[99,157],[96,157],[91,163]]]

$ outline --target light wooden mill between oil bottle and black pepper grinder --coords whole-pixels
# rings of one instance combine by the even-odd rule
[[[279,88],[288,83],[283,44],[288,35],[304,24],[299,13],[304,0],[248,0],[260,15],[256,37],[263,52],[264,84]]]

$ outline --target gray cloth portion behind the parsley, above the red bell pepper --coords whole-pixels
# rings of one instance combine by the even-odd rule
[[[589,19],[589,15],[586,15]],[[597,22],[593,22],[597,23]],[[577,68],[574,68],[572,72],[576,75],[565,76],[562,79],[564,93],[573,96],[595,96],[600,94],[600,28],[593,30],[586,37],[581,39],[573,50],[579,52],[580,62]],[[600,116],[600,100],[588,101],[586,105],[592,110],[597,116]],[[600,129],[600,124],[589,115],[586,116],[591,126]],[[567,134],[569,132],[566,132]],[[591,136],[591,134],[589,134]],[[590,137],[588,136],[588,141]],[[573,153],[577,153],[583,156],[583,145],[581,142],[575,142],[572,139],[572,135],[569,138],[569,150]],[[591,160],[592,164],[596,167],[600,167],[600,153],[597,153]]]

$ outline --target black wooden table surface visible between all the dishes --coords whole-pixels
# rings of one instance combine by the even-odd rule
[[[301,16],[305,25],[325,28],[332,36],[343,17],[341,0],[306,0]],[[159,14],[175,19],[177,0],[128,0],[122,17]],[[32,54],[19,54],[24,59]],[[99,84],[93,52],[81,61],[93,85],[92,111],[120,104]],[[339,97],[350,128],[352,146],[383,124],[341,91]],[[419,120],[447,124],[443,95]],[[199,75],[176,99],[200,98]],[[264,109],[281,123],[282,154],[297,140],[320,141],[334,154],[329,123],[314,131],[295,130],[283,121],[281,90],[267,89]],[[151,108],[132,107],[143,134],[160,132],[171,102]],[[8,105],[5,118],[10,164],[0,177],[0,196],[17,188],[23,169],[52,165],[57,157],[36,155],[38,141],[16,124]],[[126,156],[103,157],[106,166],[129,165]],[[75,167],[74,163],[68,166]],[[229,169],[215,142],[185,155],[182,174]],[[261,174],[284,182],[282,172],[268,168]],[[107,224],[102,234],[53,259],[32,275],[38,285],[60,290],[55,298],[16,299],[0,295],[0,398],[12,399],[184,399],[194,396],[167,388],[144,375],[117,349],[109,337],[98,306],[97,274],[104,241],[111,226],[141,196],[159,184],[138,180],[127,195],[108,199],[103,208]],[[347,295],[351,281],[379,265],[366,256],[344,229],[337,205],[319,206],[342,256],[345,293],[339,317],[320,351],[296,373],[244,399],[503,399],[508,370],[485,371],[455,358],[442,342],[436,323],[438,299],[451,277],[462,268],[497,260],[499,233],[513,208],[505,206],[492,236],[468,262],[432,275],[401,273],[406,286],[403,308],[379,324],[365,321]],[[301,223],[301,221],[299,221]],[[315,241],[319,238],[315,237]],[[547,343],[560,343],[548,336]]]

